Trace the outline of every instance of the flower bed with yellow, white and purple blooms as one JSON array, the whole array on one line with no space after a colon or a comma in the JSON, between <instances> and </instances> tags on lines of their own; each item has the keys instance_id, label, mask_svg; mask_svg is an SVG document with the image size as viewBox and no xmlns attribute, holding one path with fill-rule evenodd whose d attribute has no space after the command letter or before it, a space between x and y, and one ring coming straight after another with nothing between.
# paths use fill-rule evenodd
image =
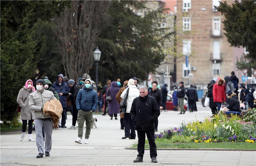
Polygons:
<instances>
[{"instance_id":1,"label":"flower bed with yellow, white and purple blooms","mask_svg":"<svg viewBox=\"0 0 256 166\"><path fill-rule=\"evenodd\" d=\"M170 142L248 142L256 141L256 124L252 121L244 121L236 115L227 118L218 114L213 118L205 118L203 122L198 120L185 124L180 128L164 130L155 134L156 139L168 139Z\"/></svg>"}]
</instances>

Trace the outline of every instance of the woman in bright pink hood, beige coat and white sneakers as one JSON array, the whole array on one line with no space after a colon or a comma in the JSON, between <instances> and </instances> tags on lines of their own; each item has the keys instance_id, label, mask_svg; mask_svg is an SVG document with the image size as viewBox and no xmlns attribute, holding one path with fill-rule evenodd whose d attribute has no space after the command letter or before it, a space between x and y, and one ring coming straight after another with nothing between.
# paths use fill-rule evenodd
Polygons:
<instances>
[{"instance_id":1,"label":"woman in bright pink hood, beige coat and white sneakers","mask_svg":"<svg viewBox=\"0 0 256 166\"><path fill-rule=\"evenodd\" d=\"M28 141L34 142L35 140L31 137L33 129L33 112L28 108L28 95L35 91L32 80L27 80L25 86L21 88L17 97L17 103L20 106L20 119L22 120L22 134L20 136L20 141L25 137L27 124L28 124Z\"/></svg>"}]
</instances>

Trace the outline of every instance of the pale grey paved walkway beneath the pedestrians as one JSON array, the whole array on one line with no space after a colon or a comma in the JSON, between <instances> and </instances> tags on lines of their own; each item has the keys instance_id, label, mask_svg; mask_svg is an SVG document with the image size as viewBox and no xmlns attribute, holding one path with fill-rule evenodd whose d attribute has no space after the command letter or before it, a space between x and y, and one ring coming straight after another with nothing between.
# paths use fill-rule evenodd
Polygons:
<instances>
[{"instance_id":1,"label":"pale grey paved walkway beneath the pedestrians","mask_svg":"<svg viewBox=\"0 0 256 166\"><path fill-rule=\"evenodd\" d=\"M184 115L178 112L161 112L159 131L169 127L179 127L182 120L204 120L211 116L209 108L197 104L199 111ZM256 151L211 151L211 150L158 150L158 163L151 163L149 150L145 150L144 162L133 163L136 150L124 149L138 140L122 140L124 130L120 120L110 120L109 116L97 117L97 129L93 128L89 144L76 144L77 130L53 130L50 157L36 159L36 142L28 142L26 134L19 141L21 131L1 134L1 166L7 165L246 165L256 166ZM67 127L72 123L68 115ZM85 130L84 130L85 132ZM35 132L32 133L35 138ZM84 139L84 138L83 138Z\"/></svg>"}]
</instances>

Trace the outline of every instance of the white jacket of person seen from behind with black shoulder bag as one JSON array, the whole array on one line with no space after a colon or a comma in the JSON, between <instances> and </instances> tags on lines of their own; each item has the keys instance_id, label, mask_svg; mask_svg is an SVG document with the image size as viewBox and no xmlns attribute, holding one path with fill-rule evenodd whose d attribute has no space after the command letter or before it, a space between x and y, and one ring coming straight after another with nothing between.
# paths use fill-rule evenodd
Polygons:
<instances>
[{"instance_id":1,"label":"white jacket of person seen from behind with black shoulder bag","mask_svg":"<svg viewBox=\"0 0 256 166\"><path fill-rule=\"evenodd\" d=\"M133 99L140 96L140 91L136 88L135 85L130 85L130 86L128 86L128 88L129 88L129 93L128 93L128 98L127 98L126 113L130 113ZM124 98L124 95L127 92L128 88L126 88L122 92L121 98Z\"/></svg>"}]
</instances>

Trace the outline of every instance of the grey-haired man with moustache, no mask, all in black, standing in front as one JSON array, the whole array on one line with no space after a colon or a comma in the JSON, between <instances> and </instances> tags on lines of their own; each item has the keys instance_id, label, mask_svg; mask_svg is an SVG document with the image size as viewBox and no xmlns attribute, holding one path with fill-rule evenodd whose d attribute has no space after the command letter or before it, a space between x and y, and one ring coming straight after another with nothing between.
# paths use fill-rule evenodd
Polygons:
<instances>
[{"instance_id":1,"label":"grey-haired man with moustache, no mask, all in black, standing in front","mask_svg":"<svg viewBox=\"0 0 256 166\"><path fill-rule=\"evenodd\" d=\"M160 110L156 98L148 96L146 86L140 87L140 97L133 100L130 114L139 139L137 148L139 154L133 162L143 162L145 134L149 142L151 162L157 162L154 120L160 115Z\"/></svg>"}]
</instances>

